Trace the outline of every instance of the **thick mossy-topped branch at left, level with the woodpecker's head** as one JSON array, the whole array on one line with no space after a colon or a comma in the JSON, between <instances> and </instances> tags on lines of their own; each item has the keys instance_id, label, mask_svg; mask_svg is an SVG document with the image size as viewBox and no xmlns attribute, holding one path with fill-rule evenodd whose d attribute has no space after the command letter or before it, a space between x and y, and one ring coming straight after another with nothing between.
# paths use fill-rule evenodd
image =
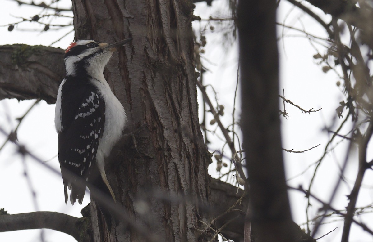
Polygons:
<instances>
[{"instance_id":1,"label":"thick mossy-topped branch at left, level with the woodpecker's head","mask_svg":"<svg viewBox=\"0 0 373 242\"><path fill-rule=\"evenodd\" d=\"M56 102L58 86L65 76L64 51L60 48L0 46L0 100L43 99Z\"/></svg>"}]
</instances>

